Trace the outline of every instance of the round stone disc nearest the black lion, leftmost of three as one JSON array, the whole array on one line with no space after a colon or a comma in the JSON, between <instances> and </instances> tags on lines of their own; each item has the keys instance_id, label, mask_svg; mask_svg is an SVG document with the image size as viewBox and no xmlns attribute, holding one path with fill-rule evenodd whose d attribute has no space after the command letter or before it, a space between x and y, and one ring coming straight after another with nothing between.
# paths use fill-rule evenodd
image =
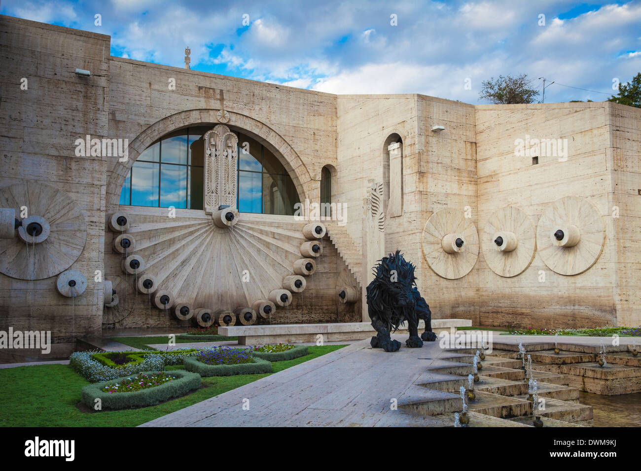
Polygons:
<instances>
[{"instance_id":1,"label":"round stone disc nearest the black lion, leftmost of three","mask_svg":"<svg viewBox=\"0 0 641 471\"><path fill-rule=\"evenodd\" d=\"M425 223L421 246L433 272L457 279L474 267L479 254L479 236L472 219L466 218L463 211L443 208Z\"/></svg>"}]
</instances>

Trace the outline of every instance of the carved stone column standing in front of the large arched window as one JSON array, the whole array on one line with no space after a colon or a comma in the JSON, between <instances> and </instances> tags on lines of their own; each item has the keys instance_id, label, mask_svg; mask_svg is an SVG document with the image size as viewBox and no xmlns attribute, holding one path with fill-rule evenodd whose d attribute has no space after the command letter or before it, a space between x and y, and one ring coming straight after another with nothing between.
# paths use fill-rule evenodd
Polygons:
<instances>
[{"instance_id":1,"label":"carved stone column standing in front of the large arched window","mask_svg":"<svg viewBox=\"0 0 641 471\"><path fill-rule=\"evenodd\" d=\"M224 124L204 135L204 211L212 214L221 204L236 208L238 136Z\"/></svg>"}]
</instances>

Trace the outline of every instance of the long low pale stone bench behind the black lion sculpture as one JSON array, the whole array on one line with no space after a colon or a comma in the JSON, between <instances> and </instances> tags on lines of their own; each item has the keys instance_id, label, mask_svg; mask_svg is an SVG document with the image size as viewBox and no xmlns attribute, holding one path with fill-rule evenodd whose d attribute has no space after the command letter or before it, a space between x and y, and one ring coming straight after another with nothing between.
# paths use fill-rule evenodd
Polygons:
<instances>
[{"instance_id":1,"label":"long low pale stone bench behind the black lion sculpture","mask_svg":"<svg viewBox=\"0 0 641 471\"><path fill-rule=\"evenodd\" d=\"M438 335L442 331L456 333L457 327L471 327L469 319L433 319L432 330ZM419 335L425 328L419 321ZM272 326L218 327L219 335L237 336L239 345L264 345L265 343L317 342L322 335L323 342L363 340L376 335L369 322L343 322L340 324L275 324ZM396 333L407 334L407 326L401 324Z\"/></svg>"}]
</instances>

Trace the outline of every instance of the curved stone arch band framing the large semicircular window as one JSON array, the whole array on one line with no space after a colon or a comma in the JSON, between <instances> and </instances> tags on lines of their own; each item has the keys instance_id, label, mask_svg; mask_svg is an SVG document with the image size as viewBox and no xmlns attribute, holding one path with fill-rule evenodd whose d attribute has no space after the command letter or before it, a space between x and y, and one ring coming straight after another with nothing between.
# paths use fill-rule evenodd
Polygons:
<instances>
[{"instance_id":1,"label":"curved stone arch band framing the large semicircular window","mask_svg":"<svg viewBox=\"0 0 641 471\"><path fill-rule=\"evenodd\" d=\"M175 113L154 122L154 124L142 131L142 133L129 143L128 159L124 162L117 161L112 169L112 174L106 186L107 208L113 208L113 206L118 205L121 188L129 169L131 169L138 156L144 152L149 145L175 129L186 128L187 126L202 126L206 124L215 126L216 124L220 124L221 121L217 118L217 114L219 114L220 111L221 110L215 109L199 109ZM223 113L221 113L221 115L222 114ZM304 199L308 197L304 185L308 183L312 177L306 165L304 165L303 160L301 160L292 146L274 131L274 129L263 122L240 113L224 111L224 114L229 115L229 120L226 120L224 124L231 128L242 129L242 131L251 135L251 137L258 140L274 153L292 178L299 198L301 201L304 201Z\"/></svg>"}]
</instances>

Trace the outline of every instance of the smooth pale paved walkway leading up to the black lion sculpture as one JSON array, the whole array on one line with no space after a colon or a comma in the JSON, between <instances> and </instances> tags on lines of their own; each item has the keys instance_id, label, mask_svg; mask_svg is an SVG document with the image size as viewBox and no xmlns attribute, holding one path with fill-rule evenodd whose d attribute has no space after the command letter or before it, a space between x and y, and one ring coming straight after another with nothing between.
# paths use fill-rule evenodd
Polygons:
<instances>
[{"instance_id":1,"label":"smooth pale paved walkway leading up to the black lion sculpture","mask_svg":"<svg viewBox=\"0 0 641 471\"><path fill-rule=\"evenodd\" d=\"M394 338L404 345L407 336ZM415 401L417 394L458 397L414 384L426 381L429 369L459 365L442 359L457 355L438 342L387 353L359 340L142 426L451 426L449 418L410 415L390 404Z\"/></svg>"}]
</instances>

